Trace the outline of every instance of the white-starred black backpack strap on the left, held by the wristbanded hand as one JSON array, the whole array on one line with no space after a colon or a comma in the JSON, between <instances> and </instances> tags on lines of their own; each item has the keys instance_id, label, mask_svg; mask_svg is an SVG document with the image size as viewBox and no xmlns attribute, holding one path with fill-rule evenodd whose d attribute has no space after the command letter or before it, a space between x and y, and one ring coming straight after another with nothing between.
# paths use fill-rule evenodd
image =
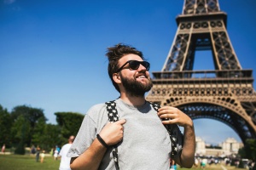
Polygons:
<instances>
[{"instance_id":1,"label":"white-starred black backpack strap on the left, held by the wristbanded hand","mask_svg":"<svg viewBox=\"0 0 256 170\"><path fill-rule=\"evenodd\" d=\"M119 120L119 114L116 110L116 103L113 101L106 102L105 105L107 106L107 112L108 112L108 121L109 122L117 122ZM118 155L118 148L117 144L113 145L113 161L114 166L117 170L119 170L119 155Z\"/></svg>"}]
</instances>

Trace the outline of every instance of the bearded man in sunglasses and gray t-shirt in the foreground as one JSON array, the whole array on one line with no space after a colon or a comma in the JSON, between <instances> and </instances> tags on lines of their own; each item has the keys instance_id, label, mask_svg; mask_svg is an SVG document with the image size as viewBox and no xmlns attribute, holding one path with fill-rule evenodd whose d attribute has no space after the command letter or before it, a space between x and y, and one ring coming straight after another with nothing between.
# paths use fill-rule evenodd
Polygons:
<instances>
[{"instance_id":1,"label":"bearded man in sunglasses and gray t-shirt in the foreground","mask_svg":"<svg viewBox=\"0 0 256 170\"><path fill-rule=\"evenodd\" d=\"M182 111L163 106L156 112L144 94L153 84L149 63L142 52L125 44L108 48L108 76L119 93L115 100L119 121L108 122L106 105L94 105L87 112L68 152L72 169L116 169L111 153L118 145L119 169L168 169L171 139L163 124L184 127L183 150L173 159L182 167L192 167L195 133L192 120ZM167 121L161 119L167 118Z\"/></svg>"}]
</instances>

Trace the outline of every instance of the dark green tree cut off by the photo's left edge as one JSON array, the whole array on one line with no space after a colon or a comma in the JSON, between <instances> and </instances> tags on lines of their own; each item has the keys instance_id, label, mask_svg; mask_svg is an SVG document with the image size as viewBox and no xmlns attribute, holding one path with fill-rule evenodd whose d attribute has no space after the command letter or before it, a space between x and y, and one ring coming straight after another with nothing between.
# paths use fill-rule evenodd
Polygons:
<instances>
[{"instance_id":1,"label":"dark green tree cut off by the photo's left edge","mask_svg":"<svg viewBox=\"0 0 256 170\"><path fill-rule=\"evenodd\" d=\"M12 121L9 112L7 109L3 109L3 106L0 105L0 144L1 146L5 144L10 146L10 133L9 129L12 127Z\"/></svg>"}]
</instances>

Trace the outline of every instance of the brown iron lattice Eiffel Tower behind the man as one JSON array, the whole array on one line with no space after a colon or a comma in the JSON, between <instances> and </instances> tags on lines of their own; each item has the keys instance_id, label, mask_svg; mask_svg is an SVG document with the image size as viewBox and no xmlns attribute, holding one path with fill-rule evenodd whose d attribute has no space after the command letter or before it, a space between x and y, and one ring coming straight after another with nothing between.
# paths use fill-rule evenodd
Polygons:
<instances>
[{"instance_id":1,"label":"brown iron lattice Eiffel Tower behind the man","mask_svg":"<svg viewBox=\"0 0 256 170\"><path fill-rule=\"evenodd\" d=\"M154 86L146 99L177 107L192 120L224 122L244 144L256 139L253 71L241 68L218 0L184 0L176 21L172 47L162 71L152 73ZM212 51L215 70L193 70L196 50Z\"/></svg>"}]
</instances>

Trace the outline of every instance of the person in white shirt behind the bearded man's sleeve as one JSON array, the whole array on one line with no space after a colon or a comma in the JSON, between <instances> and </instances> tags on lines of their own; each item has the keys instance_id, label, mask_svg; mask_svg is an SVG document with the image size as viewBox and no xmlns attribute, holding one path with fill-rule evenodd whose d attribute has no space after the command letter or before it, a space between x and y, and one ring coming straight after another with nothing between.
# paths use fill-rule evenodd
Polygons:
<instances>
[{"instance_id":1,"label":"person in white shirt behind the bearded man's sleeve","mask_svg":"<svg viewBox=\"0 0 256 170\"><path fill-rule=\"evenodd\" d=\"M70 136L68 139L68 143L64 144L61 148L59 156L61 156L60 170L70 170L70 159L71 157L67 157L67 152L73 144L74 136Z\"/></svg>"}]
</instances>

